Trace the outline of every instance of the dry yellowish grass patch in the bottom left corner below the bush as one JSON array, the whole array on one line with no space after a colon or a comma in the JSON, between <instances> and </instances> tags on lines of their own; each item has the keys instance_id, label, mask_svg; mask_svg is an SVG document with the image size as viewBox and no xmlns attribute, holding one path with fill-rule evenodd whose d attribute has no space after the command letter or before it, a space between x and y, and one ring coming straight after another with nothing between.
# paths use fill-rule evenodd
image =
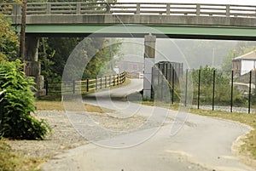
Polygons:
<instances>
[{"instance_id":1,"label":"dry yellowish grass patch in the bottom left corner below the bush","mask_svg":"<svg viewBox=\"0 0 256 171\"><path fill-rule=\"evenodd\" d=\"M0 140L0 170L3 171L38 171L43 159L26 158L11 151L5 140Z\"/></svg>"}]
</instances>

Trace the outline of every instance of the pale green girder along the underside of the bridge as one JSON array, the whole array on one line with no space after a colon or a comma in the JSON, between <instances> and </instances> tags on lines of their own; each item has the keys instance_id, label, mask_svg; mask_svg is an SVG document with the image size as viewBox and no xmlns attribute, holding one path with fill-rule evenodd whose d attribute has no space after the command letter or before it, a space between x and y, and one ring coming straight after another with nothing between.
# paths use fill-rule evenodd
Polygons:
<instances>
[{"instance_id":1,"label":"pale green girder along the underside of the bridge","mask_svg":"<svg viewBox=\"0 0 256 171\"><path fill-rule=\"evenodd\" d=\"M20 31L20 28L17 28ZM27 25L32 37L144 37L148 33L159 38L256 40L253 27L234 26L137 26L137 25Z\"/></svg>"}]
</instances>

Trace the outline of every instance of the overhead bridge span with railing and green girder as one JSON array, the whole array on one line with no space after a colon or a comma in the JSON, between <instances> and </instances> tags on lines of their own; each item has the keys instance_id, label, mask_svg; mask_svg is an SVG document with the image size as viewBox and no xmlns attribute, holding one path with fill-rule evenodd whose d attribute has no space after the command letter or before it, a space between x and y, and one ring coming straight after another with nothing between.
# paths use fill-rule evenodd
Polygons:
<instances>
[{"instance_id":1,"label":"overhead bridge span with railing and green girder","mask_svg":"<svg viewBox=\"0 0 256 171\"><path fill-rule=\"evenodd\" d=\"M6 9L6 8L5 8ZM6 14L20 28L21 4ZM150 26L168 37L256 39L256 6L206 3L27 3L26 34L37 37L84 37L106 26ZM137 26L102 32L108 37L144 37ZM160 37L159 32L152 32ZM147 32L148 34L148 32Z\"/></svg>"}]
</instances>

